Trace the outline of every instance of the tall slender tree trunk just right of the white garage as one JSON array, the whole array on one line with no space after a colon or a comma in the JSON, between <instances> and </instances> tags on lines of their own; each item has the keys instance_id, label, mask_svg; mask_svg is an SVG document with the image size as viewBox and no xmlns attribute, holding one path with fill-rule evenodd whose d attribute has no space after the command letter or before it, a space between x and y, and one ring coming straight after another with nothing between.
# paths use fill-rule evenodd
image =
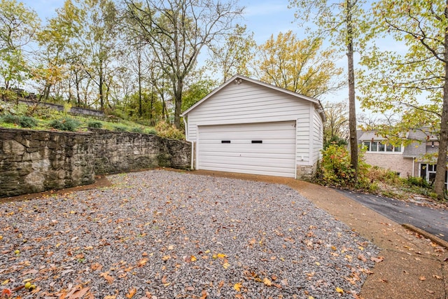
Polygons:
<instances>
[{"instance_id":1,"label":"tall slender tree trunk just right of the white garage","mask_svg":"<svg viewBox=\"0 0 448 299\"><path fill-rule=\"evenodd\" d=\"M353 67L353 24L351 21L352 3L346 0L346 26L347 26L347 60L349 64L349 132L350 157L355 183L358 181L358 139L356 137L356 102L355 102L355 71Z\"/></svg>"}]
</instances>

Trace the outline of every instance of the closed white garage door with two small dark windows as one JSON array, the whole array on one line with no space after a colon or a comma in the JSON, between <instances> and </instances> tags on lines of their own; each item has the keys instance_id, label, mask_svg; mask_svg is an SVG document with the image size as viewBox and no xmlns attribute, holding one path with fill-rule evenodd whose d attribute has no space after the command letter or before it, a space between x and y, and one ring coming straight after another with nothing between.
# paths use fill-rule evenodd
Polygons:
<instances>
[{"instance_id":1,"label":"closed white garage door with two small dark windows","mask_svg":"<svg viewBox=\"0 0 448 299\"><path fill-rule=\"evenodd\" d=\"M198 169L295 176L295 121L198 127Z\"/></svg>"}]
</instances>

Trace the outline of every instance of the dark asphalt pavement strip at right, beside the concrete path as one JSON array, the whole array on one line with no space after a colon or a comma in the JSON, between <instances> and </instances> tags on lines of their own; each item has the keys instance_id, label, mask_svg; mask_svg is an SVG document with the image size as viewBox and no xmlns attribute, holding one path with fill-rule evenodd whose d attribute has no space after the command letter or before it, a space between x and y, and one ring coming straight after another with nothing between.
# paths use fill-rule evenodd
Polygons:
<instances>
[{"instance_id":1,"label":"dark asphalt pavement strip at right, beside the concrete path","mask_svg":"<svg viewBox=\"0 0 448 299\"><path fill-rule=\"evenodd\" d=\"M426 207L412 202L403 202L388 197L357 193L349 190L336 190L396 223L412 224L448 242L447 209Z\"/></svg>"}]
</instances>

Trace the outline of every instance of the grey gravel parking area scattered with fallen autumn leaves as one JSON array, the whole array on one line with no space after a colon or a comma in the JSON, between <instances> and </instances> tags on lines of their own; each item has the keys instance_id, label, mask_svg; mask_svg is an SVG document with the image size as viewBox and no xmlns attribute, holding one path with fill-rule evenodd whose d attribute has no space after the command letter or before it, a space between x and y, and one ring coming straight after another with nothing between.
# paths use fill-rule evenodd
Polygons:
<instances>
[{"instance_id":1,"label":"grey gravel parking area scattered with fallen autumn leaves","mask_svg":"<svg viewBox=\"0 0 448 299\"><path fill-rule=\"evenodd\" d=\"M109 179L108 188L1 204L1 289L21 298L352 298L378 253L288 186L163 170ZM28 279L32 291L20 288Z\"/></svg>"}]
</instances>

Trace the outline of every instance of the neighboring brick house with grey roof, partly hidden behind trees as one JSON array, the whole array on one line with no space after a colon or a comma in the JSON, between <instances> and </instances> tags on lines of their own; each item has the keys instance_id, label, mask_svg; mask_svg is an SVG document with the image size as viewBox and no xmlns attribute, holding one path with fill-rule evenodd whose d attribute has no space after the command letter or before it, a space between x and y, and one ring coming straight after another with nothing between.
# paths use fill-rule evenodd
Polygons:
<instances>
[{"instance_id":1,"label":"neighboring brick house with grey roof, partly hidden behind trees","mask_svg":"<svg viewBox=\"0 0 448 299\"><path fill-rule=\"evenodd\" d=\"M435 179L436 161L428 161L424 155L437 153L438 141L434 136L428 137L423 130L412 130L407 139L414 140L408 146L392 146L375 131L358 131L358 144L366 148L365 162L397 172L400 177L419 176L429 182ZM446 177L446 176L445 176ZM445 184L447 179L445 179Z\"/></svg>"}]
</instances>

